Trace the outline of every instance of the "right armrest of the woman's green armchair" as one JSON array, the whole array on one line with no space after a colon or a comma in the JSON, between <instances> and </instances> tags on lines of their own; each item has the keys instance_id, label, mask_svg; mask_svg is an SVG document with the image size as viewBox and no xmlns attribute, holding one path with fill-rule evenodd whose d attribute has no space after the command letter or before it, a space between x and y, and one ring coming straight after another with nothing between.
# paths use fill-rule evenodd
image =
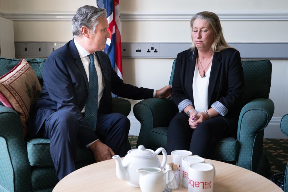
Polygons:
<instances>
[{"instance_id":1,"label":"right armrest of the woman's green armchair","mask_svg":"<svg viewBox=\"0 0 288 192\"><path fill-rule=\"evenodd\" d=\"M255 171L262 153L264 128L274 113L271 99L258 98L247 103L241 110L238 121L237 140L239 156L237 165Z\"/></svg>"}]
</instances>

